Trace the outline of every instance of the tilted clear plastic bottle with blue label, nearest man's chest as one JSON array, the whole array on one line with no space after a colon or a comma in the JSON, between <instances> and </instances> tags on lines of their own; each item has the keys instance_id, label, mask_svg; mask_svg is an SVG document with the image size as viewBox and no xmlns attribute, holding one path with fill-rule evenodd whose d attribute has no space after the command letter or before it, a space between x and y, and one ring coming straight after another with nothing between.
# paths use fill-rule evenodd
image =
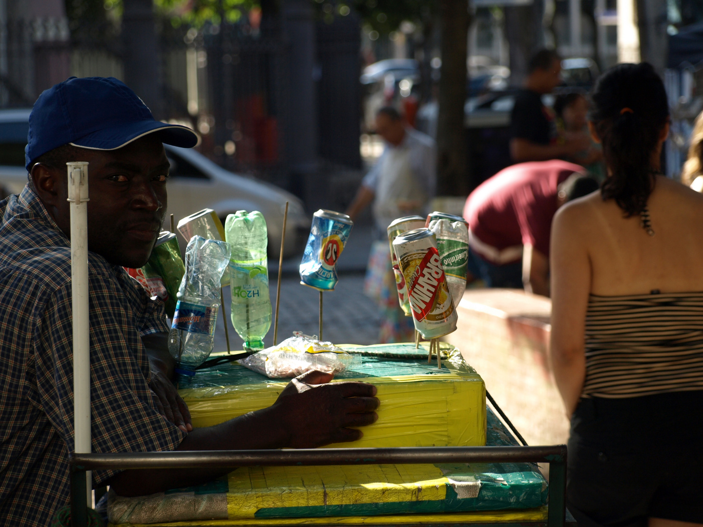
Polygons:
<instances>
[{"instance_id":1,"label":"tilted clear plastic bottle with blue label, nearest man's chest","mask_svg":"<svg viewBox=\"0 0 703 527\"><path fill-rule=\"evenodd\" d=\"M220 279L229 263L226 242L193 236L186 247L186 273L169 332L169 353L176 359L179 382L190 382L214 345Z\"/></svg>"}]
</instances>

